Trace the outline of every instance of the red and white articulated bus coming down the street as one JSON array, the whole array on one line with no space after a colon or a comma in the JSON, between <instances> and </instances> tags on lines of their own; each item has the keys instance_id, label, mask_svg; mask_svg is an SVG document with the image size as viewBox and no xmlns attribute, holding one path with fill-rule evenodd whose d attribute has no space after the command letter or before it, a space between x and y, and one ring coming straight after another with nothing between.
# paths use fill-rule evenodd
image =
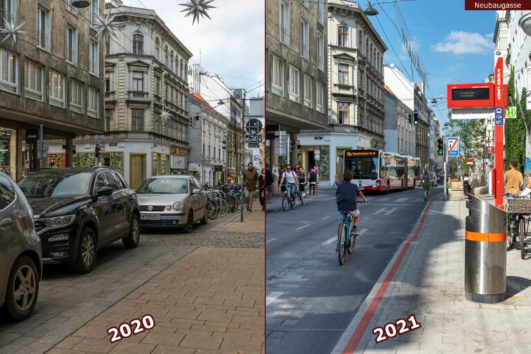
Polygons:
<instances>
[{"instance_id":1,"label":"red and white articulated bus coming down the street","mask_svg":"<svg viewBox=\"0 0 531 354\"><path fill-rule=\"evenodd\" d=\"M380 150L347 150L344 171L353 173L352 183L362 191L389 192L406 189L407 158Z\"/></svg>"}]
</instances>

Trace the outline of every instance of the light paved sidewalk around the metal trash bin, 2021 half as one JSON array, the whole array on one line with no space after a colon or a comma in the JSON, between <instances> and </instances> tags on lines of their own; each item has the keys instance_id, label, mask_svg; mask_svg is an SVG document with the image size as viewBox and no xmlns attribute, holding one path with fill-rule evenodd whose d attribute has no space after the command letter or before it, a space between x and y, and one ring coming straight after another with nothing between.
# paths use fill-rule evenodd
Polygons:
<instances>
[{"instance_id":1,"label":"light paved sidewalk around the metal trash bin, 2021 half","mask_svg":"<svg viewBox=\"0 0 531 354\"><path fill-rule=\"evenodd\" d=\"M465 201L431 204L356 353L531 353L531 261L522 260L519 250L507 252L507 299L499 304L467 301L467 215ZM375 343L373 328L412 314L422 328ZM334 353L342 351L339 346Z\"/></svg>"}]
</instances>

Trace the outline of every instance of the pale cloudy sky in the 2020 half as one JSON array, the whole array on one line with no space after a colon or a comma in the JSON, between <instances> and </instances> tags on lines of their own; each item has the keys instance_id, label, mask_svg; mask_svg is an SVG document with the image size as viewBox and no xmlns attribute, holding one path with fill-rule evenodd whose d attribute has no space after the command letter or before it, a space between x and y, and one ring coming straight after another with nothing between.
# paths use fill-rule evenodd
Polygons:
<instances>
[{"instance_id":1,"label":"pale cloudy sky in the 2020 half","mask_svg":"<svg viewBox=\"0 0 531 354\"><path fill-rule=\"evenodd\" d=\"M192 26L183 6L189 0L122 0L124 6L151 8L209 73L217 73L230 88L246 88L248 96L263 95L263 0L214 0L207 17ZM261 85L261 86L260 86ZM259 86L257 88L257 86Z\"/></svg>"}]
</instances>

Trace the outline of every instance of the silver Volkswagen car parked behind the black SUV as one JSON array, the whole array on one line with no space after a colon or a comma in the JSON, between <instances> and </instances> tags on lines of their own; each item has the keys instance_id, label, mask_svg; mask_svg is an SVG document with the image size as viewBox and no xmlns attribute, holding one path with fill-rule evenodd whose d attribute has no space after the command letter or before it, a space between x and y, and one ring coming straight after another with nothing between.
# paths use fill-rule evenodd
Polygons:
<instances>
[{"instance_id":1,"label":"silver Volkswagen car parked behind the black SUV","mask_svg":"<svg viewBox=\"0 0 531 354\"><path fill-rule=\"evenodd\" d=\"M153 176L136 189L142 227L183 227L208 222L207 196L194 176Z\"/></svg>"}]
</instances>

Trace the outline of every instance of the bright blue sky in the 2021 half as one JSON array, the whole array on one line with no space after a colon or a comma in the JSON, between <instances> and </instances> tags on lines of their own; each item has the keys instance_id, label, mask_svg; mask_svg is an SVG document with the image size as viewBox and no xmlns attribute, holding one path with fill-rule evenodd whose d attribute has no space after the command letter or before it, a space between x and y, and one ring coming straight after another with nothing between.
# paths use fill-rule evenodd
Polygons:
<instances>
[{"instance_id":1,"label":"bright blue sky in the 2021 half","mask_svg":"<svg viewBox=\"0 0 531 354\"><path fill-rule=\"evenodd\" d=\"M385 61L400 67L411 79L411 62L392 22L400 28L395 4L384 3L388 1L381 0L381 4L374 6L380 12L376 16L378 19L375 16L369 19L389 47L384 55ZM360 4L365 8L365 2L360 1ZM433 97L432 94L446 97L447 84L483 82L492 73L494 11L465 11L465 0L407 0L398 2L398 8L407 24L409 40L414 41L425 71L429 73L431 92L427 91L427 97ZM414 78L420 80L416 71ZM435 110L441 110L436 111L436 115L443 123L447 121L446 101L435 106Z\"/></svg>"}]
</instances>

